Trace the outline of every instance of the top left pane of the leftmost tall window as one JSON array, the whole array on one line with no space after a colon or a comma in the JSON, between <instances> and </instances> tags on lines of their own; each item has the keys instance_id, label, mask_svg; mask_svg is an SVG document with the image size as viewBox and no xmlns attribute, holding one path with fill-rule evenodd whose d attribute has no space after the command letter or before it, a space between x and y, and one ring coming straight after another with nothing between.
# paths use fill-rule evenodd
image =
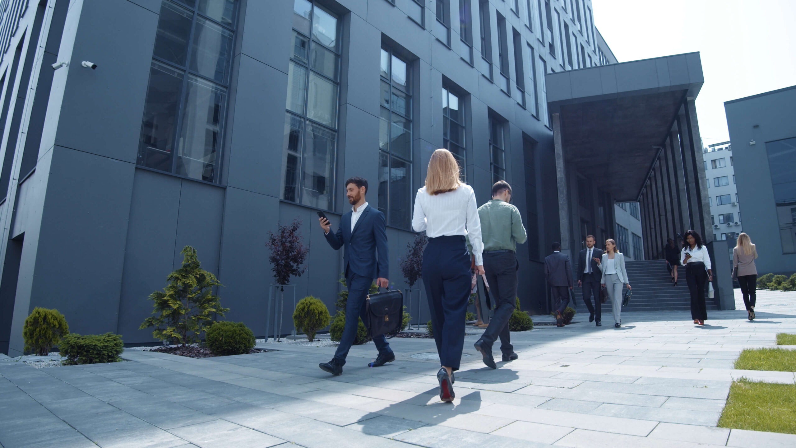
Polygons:
<instances>
[{"instance_id":1,"label":"top left pane of the leftmost tall window","mask_svg":"<svg viewBox=\"0 0 796 448\"><path fill-rule=\"evenodd\" d=\"M185 66L193 13L171 2L163 2L154 39L154 56Z\"/></svg>"}]
</instances>

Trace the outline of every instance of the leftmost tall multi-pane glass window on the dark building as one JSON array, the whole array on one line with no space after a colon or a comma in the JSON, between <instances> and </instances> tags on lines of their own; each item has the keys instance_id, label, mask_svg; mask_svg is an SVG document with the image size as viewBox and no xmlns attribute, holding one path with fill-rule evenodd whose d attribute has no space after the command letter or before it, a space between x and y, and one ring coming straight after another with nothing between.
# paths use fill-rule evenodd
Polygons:
<instances>
[{"instance_id":1,"label":"leftmost tall multi-pane glass window on the dark building","mask_svg":"<svg viewBox=\"0 0 796 448\"><path fill-rule=\"evenodd\" d=\"M218 182L237 0L164 0L137 163Z\"/></svg>"}]
</instances>

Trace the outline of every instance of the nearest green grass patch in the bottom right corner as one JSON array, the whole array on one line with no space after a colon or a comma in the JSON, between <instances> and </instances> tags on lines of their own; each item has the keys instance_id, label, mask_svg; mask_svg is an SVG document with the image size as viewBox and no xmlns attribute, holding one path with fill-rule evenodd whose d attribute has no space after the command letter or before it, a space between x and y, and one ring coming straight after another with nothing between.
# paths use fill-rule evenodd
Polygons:
<instances>
[{"instance_id":1,"label":"nearest green grass patch in the bottom right corner","mask_svg":"<svg viewBox=\"0 0 796 448\"><path fill-rule=\"evenodd\" d=\"M796 384L733 381L719 426L796 434Z\"/></svg>"}]
</instances>

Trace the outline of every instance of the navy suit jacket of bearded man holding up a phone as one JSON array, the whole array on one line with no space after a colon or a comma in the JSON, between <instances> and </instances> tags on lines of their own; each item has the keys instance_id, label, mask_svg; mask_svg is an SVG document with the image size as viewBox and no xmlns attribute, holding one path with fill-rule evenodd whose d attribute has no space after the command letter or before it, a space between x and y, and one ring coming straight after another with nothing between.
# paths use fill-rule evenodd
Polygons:
<instances>
[{"instance_id":1,"label":"navy suit jacket of bearded man holding up a phone","mask_svg":"<svg viewBox=\"0 0 796 448\"><path fill-rule=\"evenodd\" d=\"M387 228L384 214L368 205L351 230L351 213L340 218L338 232L326 234L326 241L332 249L345 246L343 261L345 277L349 269L362 277L389 278L389 257L387 249Z\"/></svg>"}]
</instances>

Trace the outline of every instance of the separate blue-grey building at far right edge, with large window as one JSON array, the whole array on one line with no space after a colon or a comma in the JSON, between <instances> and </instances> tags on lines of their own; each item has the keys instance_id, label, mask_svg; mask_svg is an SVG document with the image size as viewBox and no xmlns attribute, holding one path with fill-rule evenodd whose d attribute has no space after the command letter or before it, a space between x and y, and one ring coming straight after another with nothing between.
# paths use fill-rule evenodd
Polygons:
<instances>
[{"instance_id":1,"label":"separate blue-grey building at far right edge, with large window","mask_svg":"<svg viewBox=\"0 0 796 448\"><path fill-rule=\"evenodd\" d=\"M796 85L726 101L724 111L757 272L790 275L796 272Z\"/></svg>"}]
</instances>

